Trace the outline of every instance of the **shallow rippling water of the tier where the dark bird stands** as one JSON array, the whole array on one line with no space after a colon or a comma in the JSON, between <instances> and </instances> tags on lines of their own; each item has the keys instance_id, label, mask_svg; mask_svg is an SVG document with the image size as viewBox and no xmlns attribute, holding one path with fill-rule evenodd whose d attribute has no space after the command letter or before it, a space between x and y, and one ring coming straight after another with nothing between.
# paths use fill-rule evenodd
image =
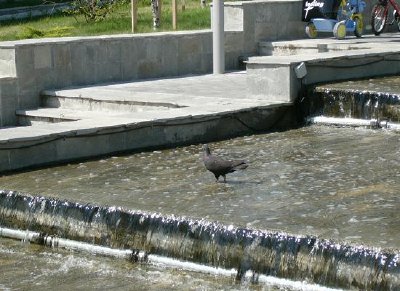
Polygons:
<instances>
[{"instance_id":1,"label":"shallow rippling water of the tier where the dark bird stands","mask_svg":"<svg viewBox=\"0 0 400 291\"><path fill-rule=\"evenodd\" d=\"M0 177L1 188L400 248L400 135L310 126L210 144L245 171L215 183L201 145Z\"/></svg>"}]
</instances>

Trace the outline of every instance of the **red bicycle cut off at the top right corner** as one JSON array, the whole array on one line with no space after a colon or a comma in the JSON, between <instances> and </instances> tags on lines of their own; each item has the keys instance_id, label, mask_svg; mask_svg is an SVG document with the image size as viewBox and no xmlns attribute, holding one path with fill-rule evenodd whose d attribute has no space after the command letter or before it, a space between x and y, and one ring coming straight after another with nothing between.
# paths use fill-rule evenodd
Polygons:
<instances>
[{"instance_id":1,"label":"red bicycle cut off at the top right corner","mask_svg":"<svg viewBox=\"0 0 400 291\"><path fill-rule=\"evenodd\" d=\"M389 25L396 23L397 29L400 31L400 6L395 0L379 0L372 8L371 13L371 26L375 35L379 35L388 23L390 6L393 7L393 19L391 19Z\"/></svg>"}]
</instances>

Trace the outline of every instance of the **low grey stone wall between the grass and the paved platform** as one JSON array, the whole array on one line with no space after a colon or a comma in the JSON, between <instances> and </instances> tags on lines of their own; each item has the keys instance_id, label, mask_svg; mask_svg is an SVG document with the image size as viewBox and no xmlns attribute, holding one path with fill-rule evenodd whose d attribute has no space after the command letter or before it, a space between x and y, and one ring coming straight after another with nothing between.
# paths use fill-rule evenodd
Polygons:
<instances>
[{"instance_id":1,"label":"low grey stone wall between the grass and the paved platform","mask_svg":"<svg viewBox=\"0 0 400 291\"><path fill-rule=\"evenodd\" d=\"M227 70L238 67L241 41L240 33L228 33ZM16 119L10 115L16 109L37 108L40 92L45 89L210 73L212 33L203 30L2 42L0 56L1 92L16 94L13 102L9 98L1 102L7 106L1 107L0 125L7 126L15 125ZM12 82L16 88L12 90L5 85L10 77L15 78Z\"/></svg>"}]
</instances>

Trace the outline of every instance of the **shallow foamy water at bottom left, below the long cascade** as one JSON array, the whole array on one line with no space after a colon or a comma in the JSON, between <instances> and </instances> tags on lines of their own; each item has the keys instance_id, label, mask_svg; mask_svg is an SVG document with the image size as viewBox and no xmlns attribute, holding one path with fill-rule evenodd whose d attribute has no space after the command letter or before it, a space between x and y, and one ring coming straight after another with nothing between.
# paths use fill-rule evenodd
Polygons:
<instances>
[{"instance_id":1,"label":"shallow foamy water at bottom left, below the long cascade","mask_svg":"<svg viewBox=\"0 0 400 291\"><path fill-rule=\"evenodd\" d=\"M258 286L257 288L259 288ZM0 238L0 290L243 290L250 282ZM265 290L279 290L265 285Z\"/></svg>"}]
</instances>

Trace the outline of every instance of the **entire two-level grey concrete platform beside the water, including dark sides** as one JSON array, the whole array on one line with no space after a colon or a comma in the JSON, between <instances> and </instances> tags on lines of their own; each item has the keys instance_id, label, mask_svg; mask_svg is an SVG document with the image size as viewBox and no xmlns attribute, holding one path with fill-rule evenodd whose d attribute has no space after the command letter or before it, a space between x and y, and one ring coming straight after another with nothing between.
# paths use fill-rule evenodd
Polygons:
<instances>
[{"instance_id":1,"label":"entire two-level grey concrete platform beside the water, including dark sides","mask_svg":"<svg viewBox=\"0 0 400 291\"><path fill-rule=\"evenodd\" d=\"M246 71L42 90L0 130L0 172L285 129L304 85L400 73L398 34L270 44Z\"/></svg>"}]
</instances>

